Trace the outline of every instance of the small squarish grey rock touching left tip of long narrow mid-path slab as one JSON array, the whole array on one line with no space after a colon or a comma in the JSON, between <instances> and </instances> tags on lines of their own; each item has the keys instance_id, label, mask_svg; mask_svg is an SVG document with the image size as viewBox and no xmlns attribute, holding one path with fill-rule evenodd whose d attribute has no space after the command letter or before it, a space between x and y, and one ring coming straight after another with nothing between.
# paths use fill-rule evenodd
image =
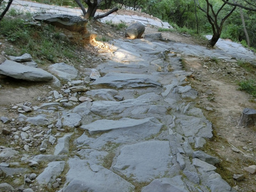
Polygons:
<instances>
[{"instance_id":1,"label":"small squarish grey rock touching left tip of long narrow mid-path slab","mask_svg":"<svg viewBox=\"0 0 256 192\"><path fill-rule=\"evenodd\" d=\"M76 113L69 113L62 116L62 127L78 127L81 125L82 117Z\"/></svg>"}]
</instances>

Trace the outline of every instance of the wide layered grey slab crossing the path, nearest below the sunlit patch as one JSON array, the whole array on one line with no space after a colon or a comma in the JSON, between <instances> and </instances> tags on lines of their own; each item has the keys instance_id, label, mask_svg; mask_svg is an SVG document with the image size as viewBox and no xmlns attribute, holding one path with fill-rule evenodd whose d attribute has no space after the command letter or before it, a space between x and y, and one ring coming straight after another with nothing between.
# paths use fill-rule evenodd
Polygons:
<instances>
[{"instance_id":1,"label":"wide layered grey slab crossing the path, nearest below the sunlit patch","mask_svg":"<svg viewBox=\"0 0 256 192\"><path fill-rule=\"evenodd\" d=\"M155 81L154 76L142 74L109 73L104 77L96 79L92 85L107 85L111 87L148 87L162 86Z\"/></svg>"}]
</instances>

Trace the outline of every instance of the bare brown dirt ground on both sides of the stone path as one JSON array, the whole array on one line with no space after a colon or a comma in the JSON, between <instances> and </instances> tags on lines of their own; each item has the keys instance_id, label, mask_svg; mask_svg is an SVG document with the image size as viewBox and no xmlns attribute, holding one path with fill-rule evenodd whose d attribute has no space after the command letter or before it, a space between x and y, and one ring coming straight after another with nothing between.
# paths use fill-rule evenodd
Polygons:
<instances>
[{"instance_id":1,"label":"bare brown dirt ground on both sides of the stone path","mask_svg":"<svg viewBox=\"0 0 256 192\"><path fill-rule=\"evenodd\" d=\"M133 12L129 13L133 14ZM97 31L99 36L124 38L123 31L116 33L113 27L100 22L91 22L88 28ZM145 34L152 33L159 33L158 29L152 26L146 27ZM175 32L161 33L164 38L175 42L200 45L206 45L207 43L206 40L198 40L196 37ZM8 46L7 42L4 42L4 46ZM96 51L94 46L87 46L86 49L89 50L86 53L91 54L92 59L97 57L97 54L90 53L90 51ZM239 67L237 62L215 61L210 57L180 56L184 68L193 72L193 75L188 79L191 86L199 93L196 106L204 111L206 118L213 124L214 137L209 140L203 150L206 153L218 156L222 160L217 172L232 187L235 187L238 191L256 191L256 175L249 174L244 170L244 167L256 164L256 129L255 127L237 126L237 121L244 108L256 109L255 100L249 94L239 91L237 82L244 77L254 77L256 70L246 71ZM97 65L94 60L91 60L91 63ZM89 64L90 62L88 62ZM33 106L36 106L42 102L42 100L38 100L38 97L50 96L49 92L54 90L51 85L45 83L28 83L15 81L11 78L0 79L0 85L2 86L0 89L0 116L9 118L18 116L17 112L10 110L13 105L29 101L33 103ZM2 123L0 124L2 125ZM0 143L0 145L4 144ZM237 148L238 153L231 148ZM245 179L236 181L233 179L233 174L244 174Z\"/></svg>"}]
</instances>

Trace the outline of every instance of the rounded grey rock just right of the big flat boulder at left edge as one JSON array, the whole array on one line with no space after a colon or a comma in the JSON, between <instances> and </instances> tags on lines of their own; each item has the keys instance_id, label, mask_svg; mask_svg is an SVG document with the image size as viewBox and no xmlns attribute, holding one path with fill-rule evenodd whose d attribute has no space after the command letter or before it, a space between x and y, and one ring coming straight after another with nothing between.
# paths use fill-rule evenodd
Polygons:
<instances>
[{"instance_id":1,"label":"rounded grey rock just right of the big flat boulder at left edge","mask_svg":"<svg viewBox=\"0 0 256 192\"><path fill-rule=\"evenodd\" d=\"M75 79L78 75L78 71L73 66L69 66L66 63L55 63L49 66L49 70L61 80L69 82Z\"/></svg>"}]
</instances>

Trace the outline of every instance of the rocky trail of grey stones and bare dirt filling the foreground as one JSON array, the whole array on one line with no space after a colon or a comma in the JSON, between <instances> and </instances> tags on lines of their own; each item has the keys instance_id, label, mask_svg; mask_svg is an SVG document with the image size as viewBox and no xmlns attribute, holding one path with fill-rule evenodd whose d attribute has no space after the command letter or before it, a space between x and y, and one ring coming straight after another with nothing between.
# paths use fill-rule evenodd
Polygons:
<instances>
[{"instance_id":1,"label":"rocky trail of grey stones and bare dirt filling the foreground","mask_svg":"<svg viewBox=\"0 0 256 192\"><path fill-rule=\"evenodd\" d=\"M61 82L1 80L0 191L256 191L256 133L237 126L255 103L227 81L255 54L149 31L95 45L95 68L47 67Z\"/></svg>"}]
</instances>

